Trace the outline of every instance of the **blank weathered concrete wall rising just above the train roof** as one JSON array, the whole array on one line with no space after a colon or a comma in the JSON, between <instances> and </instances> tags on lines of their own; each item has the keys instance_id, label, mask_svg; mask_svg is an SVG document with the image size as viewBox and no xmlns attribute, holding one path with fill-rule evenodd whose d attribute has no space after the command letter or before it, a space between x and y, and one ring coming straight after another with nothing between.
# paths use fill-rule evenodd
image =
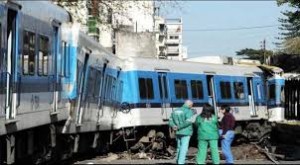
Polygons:
<instances>
[{"instance_id":1,"label":"blank weathered concrete wall rising just above the train roof","mask_svg":"<svg viewBox=\"0 0 300 165\"><path fill-rule=\"evenodd\" d=\"M155 36L151 32L116 32L116 55L119 57L156 57Z\"/></svg>"}]
</instances>

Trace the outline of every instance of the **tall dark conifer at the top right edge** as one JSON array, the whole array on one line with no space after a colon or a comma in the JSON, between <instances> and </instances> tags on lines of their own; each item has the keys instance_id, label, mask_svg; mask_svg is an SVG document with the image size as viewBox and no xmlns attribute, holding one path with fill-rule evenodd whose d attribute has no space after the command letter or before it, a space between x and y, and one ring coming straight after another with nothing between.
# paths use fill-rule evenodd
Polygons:
<instances>
[{"instance_id":1,"label":"tall dark conifer at the top right edge","mask_svg":"<svg viewBox=\"0 0 300 165\"><path fill-rule=\"evenodd\" d=\"M277 0L277 4L291 7L290 11L282 12L284 18L279 18L282 51L287 54L300 54L300 1Z\"/></svg>"}]
</instances>

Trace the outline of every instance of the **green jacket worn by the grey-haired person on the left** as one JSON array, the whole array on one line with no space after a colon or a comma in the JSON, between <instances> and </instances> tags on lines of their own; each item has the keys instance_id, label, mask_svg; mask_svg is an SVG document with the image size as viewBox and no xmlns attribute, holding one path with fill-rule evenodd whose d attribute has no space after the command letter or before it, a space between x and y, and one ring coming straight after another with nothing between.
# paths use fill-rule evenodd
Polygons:
<instances>
[{"instance_id":1,"label":"green jacket worn by the grey-haired person on the left","mask_svg":"<svg viewBox=\"0 0 300 165\"><path fill-rule=\"evenodd\" d=\"M181 108L175 109L170 118L169 126L177 126L176 135L192 135L193 134L193 123L192 123L193 111L186 105Z\"/></svg>"}]
</instances>

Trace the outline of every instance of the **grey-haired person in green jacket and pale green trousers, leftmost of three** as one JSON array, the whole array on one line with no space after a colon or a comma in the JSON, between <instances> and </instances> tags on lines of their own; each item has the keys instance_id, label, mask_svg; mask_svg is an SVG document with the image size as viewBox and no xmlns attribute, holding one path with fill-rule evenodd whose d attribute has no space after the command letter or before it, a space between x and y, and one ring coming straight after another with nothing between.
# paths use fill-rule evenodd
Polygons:
<instances>
[{"instance_id":1,"label":"grey-haired person in green jacket and pale green trousers, leftmost of three","mask_svg":"<svg viewBox=\"0 0 300 165\"><path fill-rule=\"evenodd\" d=\"M185 163L190 138L193 134L192 117L194 113L191 109L192 107L193 102L191 100L186 100L184 105L181 108L175 109L169 118L169 126L176 131L177 164Z\"/></svg>"}]
</instances>

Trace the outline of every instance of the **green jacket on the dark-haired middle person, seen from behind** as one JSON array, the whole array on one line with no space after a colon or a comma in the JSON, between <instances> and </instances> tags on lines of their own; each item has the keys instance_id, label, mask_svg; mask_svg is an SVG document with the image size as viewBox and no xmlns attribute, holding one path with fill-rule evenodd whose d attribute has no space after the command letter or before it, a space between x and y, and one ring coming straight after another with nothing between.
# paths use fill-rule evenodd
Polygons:
<instances>
[{"instance_id":1,"label":"green jacket on the dark-haired middle person, seen from behind","mask_svg":"<svg viewBox=\"0 0 300 165\"><path fill-rule=\"evenodd\" d=\"M215 115L209 120L197 116L195 122L198 130L198 140L216 140L219 139L218 119Z\"/></svg>"}]
</instances>

